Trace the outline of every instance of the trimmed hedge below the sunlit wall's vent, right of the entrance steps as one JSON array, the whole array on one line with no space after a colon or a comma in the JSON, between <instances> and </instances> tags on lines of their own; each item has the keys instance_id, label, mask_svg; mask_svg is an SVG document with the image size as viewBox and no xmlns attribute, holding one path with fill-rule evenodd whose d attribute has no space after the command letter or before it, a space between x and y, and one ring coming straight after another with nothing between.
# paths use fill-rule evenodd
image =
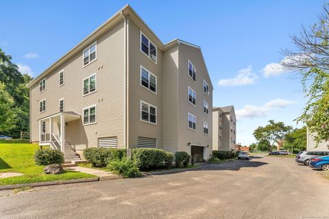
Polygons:
<instances>
[{"instance_id":1,"label":"trimmed hedge below the sunlit wall's vent, right of the entrance steps","mask_svg":"<svg viewBox=\"0 0 329 219\"><path fill-rule=\"evenodd\" d=\"M84 150L84 157L95 167L106 167L113 160L121 160L126 156L125 149L88 148Z\"/></svg>"}]
</instances>

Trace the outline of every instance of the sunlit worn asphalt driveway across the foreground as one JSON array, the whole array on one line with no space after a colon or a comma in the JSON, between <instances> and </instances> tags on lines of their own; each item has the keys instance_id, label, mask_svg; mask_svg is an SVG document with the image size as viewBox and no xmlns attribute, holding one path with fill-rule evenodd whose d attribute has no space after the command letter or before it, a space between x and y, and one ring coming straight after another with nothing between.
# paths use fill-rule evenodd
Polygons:
<instances>
[{"instance_id":1,"label":"sunlit worn asphalt driveway across the foreground","mask_svg":"<svg viewBox=\"0 0 329 219\"><path fill-rule=\"evenodd\" d=\"M137 179L0 191L0 218L329 218L329 181L253 157Z\"/></svg>"}]
</instances>

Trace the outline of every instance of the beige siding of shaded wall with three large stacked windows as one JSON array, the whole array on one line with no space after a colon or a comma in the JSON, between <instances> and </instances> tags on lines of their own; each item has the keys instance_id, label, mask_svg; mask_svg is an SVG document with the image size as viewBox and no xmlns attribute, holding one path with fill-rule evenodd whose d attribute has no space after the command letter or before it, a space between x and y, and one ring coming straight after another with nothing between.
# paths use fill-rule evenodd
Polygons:
<instances>
[{"instance_id":1,"label":"beige siding of shaded wall with three large stacked windows","mask_svg":"<svg viewBox=\"0 0 329 219\"><path fill-rule=\"evenodd\" d=\"M129 20L128 57L128 135L129 146L138 146L138 137L156 138L162 147L162 51L157 49L157 64L140 51L140 29ZM145 34L146 35L146 34ZM151 38L150 36L147 36ZM158 45L156 45L158 47ZM141 65L157 77L157 93L141 86ZM140 120L141 100L157 107L157 124Z\"/></svg>"}]
</instances>

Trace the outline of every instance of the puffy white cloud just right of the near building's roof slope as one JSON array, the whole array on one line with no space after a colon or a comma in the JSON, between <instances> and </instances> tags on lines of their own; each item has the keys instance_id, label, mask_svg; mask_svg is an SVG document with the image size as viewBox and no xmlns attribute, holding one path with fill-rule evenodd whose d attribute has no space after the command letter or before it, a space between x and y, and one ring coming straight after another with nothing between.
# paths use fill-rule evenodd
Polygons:
<instances>
[{"instance_id":1,"label":"puffy white cloud just right of the near building's roof slope","mask_svg":"<svg viewBox=\"0 0 329 219\"><path fill-rule=\"evenodd\" d=\"M238 71L235 77L220 79L218 86L245 86L256 83L257 75L252 72L252 66Z\"/></svg>"}]
</instances>

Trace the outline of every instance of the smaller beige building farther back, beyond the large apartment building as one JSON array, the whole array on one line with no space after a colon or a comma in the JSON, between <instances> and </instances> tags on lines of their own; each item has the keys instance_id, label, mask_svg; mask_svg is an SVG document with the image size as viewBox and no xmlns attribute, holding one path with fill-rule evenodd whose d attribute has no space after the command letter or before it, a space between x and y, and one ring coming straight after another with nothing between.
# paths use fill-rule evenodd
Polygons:
<instances>
[{"instance_id":1,"label":"smaller beige building farther back, beyond the large apartment building","mask_svg":"<svg viewBox=\"0 0 329 219\"><path fill-rule=\"evenodd\" d=\"M213 150L236 149L236 117L232 105L212 108L212 131Z\"/></svg>"}]
</instances>

